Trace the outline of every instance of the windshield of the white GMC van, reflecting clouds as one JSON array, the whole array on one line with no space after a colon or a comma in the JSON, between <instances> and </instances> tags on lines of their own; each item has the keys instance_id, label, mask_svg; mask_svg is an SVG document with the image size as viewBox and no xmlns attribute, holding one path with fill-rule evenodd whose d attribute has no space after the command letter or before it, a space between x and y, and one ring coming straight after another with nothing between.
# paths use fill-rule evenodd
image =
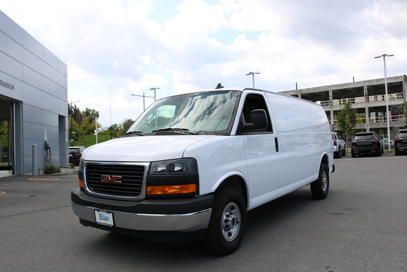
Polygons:
<instances>
[{"instance_id":1,"label":"windshield of the white GMC van, reflecting clouds","mask_svg":"<svg viewBox=\"0 0 407 272\"><path fill-rule=\"evenodd\" d=\"M148 134L174 128L175 133L182 134L181 130L230 134L240 94L239 91L211 91L157 100L137 118L128 133Z\"/></svg>"}]
</instances>

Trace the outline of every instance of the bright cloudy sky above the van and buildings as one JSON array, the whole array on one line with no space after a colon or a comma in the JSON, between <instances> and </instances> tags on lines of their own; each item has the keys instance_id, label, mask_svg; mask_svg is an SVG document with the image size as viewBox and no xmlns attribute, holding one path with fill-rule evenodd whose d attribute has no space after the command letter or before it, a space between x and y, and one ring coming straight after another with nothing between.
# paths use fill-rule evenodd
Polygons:
<instances>
[{"instance_id":1,"label":"bright cloudy sky above the van and buildings","mask_svg":"<svg viewBox=\"0 0 407 272\"><path fill-rule=\"evenodd\" d=\"M142 97L214 88L287 91L407 73L405 0L0 0L68 65L68 99L103 127ZM154 101L146 98L146 107ZM111 111L110 111L111 107ZM111 112L111 114L110 114ZM111 121L110 121L111 119Z\"/></svg>"}]
</instances>

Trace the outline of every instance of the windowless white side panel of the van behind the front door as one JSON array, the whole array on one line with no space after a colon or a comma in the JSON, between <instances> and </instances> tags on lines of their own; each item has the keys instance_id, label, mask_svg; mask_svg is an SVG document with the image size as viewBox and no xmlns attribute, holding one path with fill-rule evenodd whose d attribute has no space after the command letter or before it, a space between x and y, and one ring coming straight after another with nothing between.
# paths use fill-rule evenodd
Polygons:
<instances>
[{"instance_id":1,"label":"windowless white side panel of the van behind the front door","mask_svg":"<svg viewBox=\"0 0 407 272\"><path fill-rule=\"evenodd\" d=\"M328 118L318 104L281 94L267 93L267 97L277 127L278 153L286 162L284 180L308 180L318 173L322 154L332 153ZM280 187L285 185L282 181Z\"/></svg>"}]
</instances>

